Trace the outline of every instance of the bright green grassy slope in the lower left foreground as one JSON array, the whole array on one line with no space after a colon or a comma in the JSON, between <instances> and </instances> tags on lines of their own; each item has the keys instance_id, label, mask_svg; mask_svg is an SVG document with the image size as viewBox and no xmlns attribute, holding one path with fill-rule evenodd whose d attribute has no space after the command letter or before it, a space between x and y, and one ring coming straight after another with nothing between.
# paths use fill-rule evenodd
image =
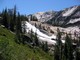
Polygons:
<instances>
[{"instance_id":1,"label":"bright green grassy slope in the lower left foreground","mask_svg":"<svg viewBox=\"0 0 80 60\"><path fill-rule=\"evenodd\" d=\"M39 48L17 44L15 35L6 28L0 27L0 59L4 60L53 60L48 53Z\"/></svg>"}]
</instances>

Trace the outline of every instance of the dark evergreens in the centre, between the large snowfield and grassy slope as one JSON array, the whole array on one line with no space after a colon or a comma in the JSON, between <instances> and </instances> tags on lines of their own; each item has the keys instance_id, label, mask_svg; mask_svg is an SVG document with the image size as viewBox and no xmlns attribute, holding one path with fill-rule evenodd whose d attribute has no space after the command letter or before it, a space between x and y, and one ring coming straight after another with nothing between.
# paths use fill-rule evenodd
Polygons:
<instances>
[{"instance_id":1,"label":"dark evergreens in the centre, between the large snowfield and grassy slope","mask_svg":"<svg viewBox=\"0 0 80 60\"><path fill-rule=\"evenodd\" d=\"M26 36L26 37L29 37L30 39L27 40L25 38L24 41L27 42L27 44L29 44L29 46L31 48L40 48L46 53L49 52L48 43L47 42L40 42L40 40L38 39L37 33L36 32L33 33L32 29L31 29L30 33L28 33L28 36Z\"/></svg>"}]
</instances>

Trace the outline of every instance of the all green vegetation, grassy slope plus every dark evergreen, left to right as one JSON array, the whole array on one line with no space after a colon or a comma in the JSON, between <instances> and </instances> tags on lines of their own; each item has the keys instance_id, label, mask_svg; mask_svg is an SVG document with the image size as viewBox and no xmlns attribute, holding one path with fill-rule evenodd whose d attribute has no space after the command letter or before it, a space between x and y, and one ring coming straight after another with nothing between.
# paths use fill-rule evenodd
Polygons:
<instances>
[{"instance_id":1,"label":"all green vegetation, grassy slope plus every dark evergreen, left to right","mask_svg":"<svg viewBox=\"0 0 80 60\"><path fill-rule=\"evenodd\" d=\"M20 15L16 6L13 10L6 8L0 16L0 60L80 60L80 37L76 33L75 46L75 38L73 40L67 33L63 44L62 32L57 29L56 45L54 51L50 51L47 42L38 40L37 33L33 30L26 33L25 21L28 18ZM36 17L31 16L30 19L37 21Z\"/></svg>"}]
</instances>

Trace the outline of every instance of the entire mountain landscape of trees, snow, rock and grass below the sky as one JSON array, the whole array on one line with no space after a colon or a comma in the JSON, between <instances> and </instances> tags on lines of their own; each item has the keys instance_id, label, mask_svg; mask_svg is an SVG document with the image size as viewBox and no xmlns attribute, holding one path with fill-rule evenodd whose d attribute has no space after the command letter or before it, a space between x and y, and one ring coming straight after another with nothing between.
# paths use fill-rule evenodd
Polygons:
<instances>
[{"instance_id":1,"label":"entire mountain landscape of trees, snow, rock and grass below the sky","mask_svg":"<svg viewBox=\"0 0 80 60\"><path fill-rule=\"evenodd\" d=\"M0 14L0 60L80 60L80 6L21 15ZM78 59L76 59L78 57Z\"/></svg>"}]
</instances>

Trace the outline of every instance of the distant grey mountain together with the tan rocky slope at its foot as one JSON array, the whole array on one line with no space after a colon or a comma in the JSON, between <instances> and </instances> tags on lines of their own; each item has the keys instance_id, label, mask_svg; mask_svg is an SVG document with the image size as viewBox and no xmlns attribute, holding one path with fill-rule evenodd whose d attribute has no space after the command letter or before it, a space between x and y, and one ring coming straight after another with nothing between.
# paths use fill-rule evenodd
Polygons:
<instances>
[{"instance_id":1,"label":"distant grey mountain together with the tan rocky slope at its foot","mask_svg":"<svg viewBox=\"0 0 80 60\"><path fill-rule=\"evenodd\" d=\"M37 21L31 19L31 24L37 24L38 28L41 24L44 30L51 34L56 34L57 28L62 32L80 34L80 5L71 6L60 11L47 11L32 14L37 18ZM39 22L39 24L38 24ZM52 33L53 34L53 33Z\"/></svg>"}]
</instances>

